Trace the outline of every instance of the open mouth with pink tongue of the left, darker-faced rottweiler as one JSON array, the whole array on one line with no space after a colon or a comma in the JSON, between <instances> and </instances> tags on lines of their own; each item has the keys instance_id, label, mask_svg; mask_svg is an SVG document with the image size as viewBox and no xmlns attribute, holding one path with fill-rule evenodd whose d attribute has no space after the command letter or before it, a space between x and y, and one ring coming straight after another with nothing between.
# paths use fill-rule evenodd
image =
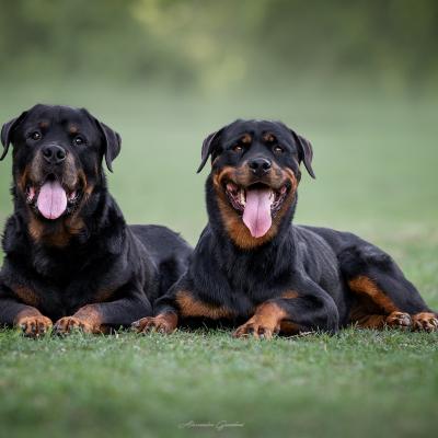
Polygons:
<instances>
[{"instance_id":1,"label":"open mouth with pink tongue of the left, darker-faced rottweiler","mask_svg":"<svg viewBox=\"0 0 438 438\"><path fill-rule=\"evenodd\" d=\"M26 187L27 204L46 219L55 220L74 211L81 191L68 189L54 174L47 175L43 184Z\"/></svg>"}]
</instances>

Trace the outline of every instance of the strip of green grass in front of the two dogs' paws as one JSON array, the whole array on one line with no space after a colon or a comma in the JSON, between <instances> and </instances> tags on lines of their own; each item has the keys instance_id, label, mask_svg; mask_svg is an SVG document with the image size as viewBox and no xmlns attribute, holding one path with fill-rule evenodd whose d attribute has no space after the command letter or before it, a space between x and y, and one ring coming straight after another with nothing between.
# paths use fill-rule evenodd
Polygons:
<instances>
[{"instance_id":1,"label":"strip of green grass in front of the two dogs' paws","mask_svg":"<svg viewBox=\"0 0 438 438\"><path fill-rule=\"evenodd\" d=\"M434 436L436 334L346 330L31 342L0 333L8 436ZM191 424L242 424L218 431Z\"/></svg>"}]
</instances>

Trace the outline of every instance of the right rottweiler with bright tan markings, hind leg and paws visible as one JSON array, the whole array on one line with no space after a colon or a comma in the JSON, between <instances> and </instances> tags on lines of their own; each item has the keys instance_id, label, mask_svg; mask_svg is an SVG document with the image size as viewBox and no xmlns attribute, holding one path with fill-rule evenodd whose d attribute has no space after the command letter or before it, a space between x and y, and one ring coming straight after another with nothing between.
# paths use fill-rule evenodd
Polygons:
<instances>
[{"instance_id":1,"label":"right rottweiler with bright tan markings, hind leg and paws visible","mask_svg":"<svg viewBox=\"0 0 438 438\"><path fill-rule=\"evenodd\" d=\"M198 172L209 155L209 222L139 332L194 319L256 338L347 324L437 330L437 313L388 254L348 232L292 224L300 164L314 177L308 140L281 123L237 120L205 139Z\"/></svg>"}]
</instances>

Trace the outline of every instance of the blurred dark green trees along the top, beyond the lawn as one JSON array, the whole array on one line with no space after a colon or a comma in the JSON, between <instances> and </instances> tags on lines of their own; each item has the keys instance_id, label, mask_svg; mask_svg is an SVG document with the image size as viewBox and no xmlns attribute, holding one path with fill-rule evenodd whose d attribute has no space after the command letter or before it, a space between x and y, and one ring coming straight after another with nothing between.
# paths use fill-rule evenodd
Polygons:
<instances>
[{"instance_id":1,"label":"blurred dark green trees along the top, beyond the lawn","mask_svg":"<svg viewBox=\"0 0 438 438\"><path fill-rule=\"evenodd\" d=\"M436 0L0 0L0 74L438 84Z\"/></svg>"}]
</instances>

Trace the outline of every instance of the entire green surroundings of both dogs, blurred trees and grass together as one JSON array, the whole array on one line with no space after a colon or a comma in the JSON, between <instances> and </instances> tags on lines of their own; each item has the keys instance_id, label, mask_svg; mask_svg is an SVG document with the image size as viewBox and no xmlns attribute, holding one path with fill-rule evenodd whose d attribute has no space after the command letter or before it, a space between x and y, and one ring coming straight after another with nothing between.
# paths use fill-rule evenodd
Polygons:
<instances>
[{"instance_id":1,"label":"entire green surroundings of both dogs, blurred trees and grass together","mask_svg":"<svg viewBox=\"0 0 438 438\"><path fill-rule=\"evenodd\" d=\"M0 0L0 122L85 106L120 132L111 191L130 223L193 244L203 139L238 117L312 141L297 222L389 251L438 309L436 0ZM0 222L12 211L0 170ZM437 429L437 336L229 333L32 343L0 332L9 436L396 436ZM243 430L176 430L187 420ZM100 434L97 434L97 429ZM1 435L1 433L0 433Z\"/></svg>"}]
</instances>

